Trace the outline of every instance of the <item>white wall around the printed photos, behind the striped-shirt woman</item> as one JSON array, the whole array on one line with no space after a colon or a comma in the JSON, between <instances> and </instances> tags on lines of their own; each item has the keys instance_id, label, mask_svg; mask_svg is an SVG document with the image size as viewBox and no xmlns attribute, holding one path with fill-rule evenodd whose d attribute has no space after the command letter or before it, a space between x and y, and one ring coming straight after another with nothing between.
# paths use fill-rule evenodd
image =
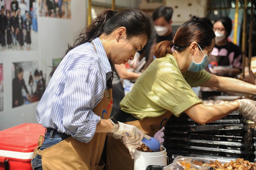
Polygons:
<instances>
[{"instance_id":1,"label":"white wall around the printed photos, behind the striped-shirt woman","mask_svg":"<svg viewBox=\"0 0 256 170\"><path fill-rule=\"evenodd\" d=\"M31 51L1 51L0 64L3 64L3 111L0 112L0 130L22 123L37 123L35 108L38 102L12 108L12 63L38 61L48 82L53 58L62 58L67 43L73 43L80 29L85 27L85 0L71 0L71 19L38 17L38 48ZM25 47L25 46L24 46ZM1 103L1 102L0 102Z\"/></svg>"}]
</instances>

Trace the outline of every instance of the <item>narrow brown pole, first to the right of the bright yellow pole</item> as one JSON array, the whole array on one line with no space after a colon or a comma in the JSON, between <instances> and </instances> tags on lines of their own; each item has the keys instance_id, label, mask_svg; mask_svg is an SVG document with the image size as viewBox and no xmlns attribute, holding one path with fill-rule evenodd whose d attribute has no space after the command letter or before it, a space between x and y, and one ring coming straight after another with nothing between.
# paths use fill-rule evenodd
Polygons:
<instances>
[{"instance_id":1,"label":"narrow brown pole, first to the right of the bright yellow pole","mask_svg":"<svg viewBox=\"0 0 256 170\"><path fill-rule=\"evenodd\" d=\"M244 19L243 19L243 32L242 32L242 57L243 57L243 68L242 68L242 76L245 76L244 68L246 65L246 18L247 18L247 0L244 0Z\"/></svg>"}]
</instances>

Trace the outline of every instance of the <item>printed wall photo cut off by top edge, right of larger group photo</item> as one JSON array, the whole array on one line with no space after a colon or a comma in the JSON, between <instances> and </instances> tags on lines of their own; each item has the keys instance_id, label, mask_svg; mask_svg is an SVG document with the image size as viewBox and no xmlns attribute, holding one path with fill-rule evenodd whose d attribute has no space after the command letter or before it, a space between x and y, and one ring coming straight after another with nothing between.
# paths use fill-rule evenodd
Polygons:
<instances>
[{"instance_id":1,"label":"printed wall photo cut off by top edge, right of larger group photo","mask_svg":"<svg viewBox=\"0 0 256 170\"><path fill-rule=\"evenodd\" d=\"M71 19L71 0L38 0L39 16Z\"/></svg>"}]
</instances>

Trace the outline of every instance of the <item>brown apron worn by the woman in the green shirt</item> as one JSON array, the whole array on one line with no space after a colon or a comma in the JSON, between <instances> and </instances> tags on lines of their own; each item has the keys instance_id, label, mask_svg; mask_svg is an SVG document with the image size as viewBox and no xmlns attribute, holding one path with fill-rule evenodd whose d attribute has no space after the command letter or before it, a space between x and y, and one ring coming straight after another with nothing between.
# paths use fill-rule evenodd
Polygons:
<instances>
[{"instance_id":1,"label":"brown apron worn by the woman in the green shirt","mask_svg":"<svg viewBox=\"0 0 256 170\"><path fill-rule=\"evenodd\" d=\"M156 118L145 118L144 120L136 120L125 122L126 124L135 125L149 136L154 136L157 131L162 129L171 117L172 113L167 111L163 115ZM131 159L129 150L119 139L107 137L107 166L106 170L133 170L134 160Z\"/></svg>"}]
</instances>

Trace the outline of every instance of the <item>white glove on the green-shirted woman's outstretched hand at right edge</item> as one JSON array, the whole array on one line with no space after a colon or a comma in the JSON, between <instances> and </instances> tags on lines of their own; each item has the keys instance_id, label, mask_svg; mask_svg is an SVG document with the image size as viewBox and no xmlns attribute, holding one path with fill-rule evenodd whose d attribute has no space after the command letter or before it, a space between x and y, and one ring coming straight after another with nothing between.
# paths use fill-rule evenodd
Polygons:
<instances>
[{"instance_id":1,"label":"white glove on the green-shirted woman's outstretched hand at right edge","mask_svg":"<svg viewBox=\"0 0 256 170\"><path fill-rule=\"evenodd\" d=\"M240 106L238 111L248 120L256 122L256 102L249 99L239 99Z\"/></svg>"}]
</instances>

